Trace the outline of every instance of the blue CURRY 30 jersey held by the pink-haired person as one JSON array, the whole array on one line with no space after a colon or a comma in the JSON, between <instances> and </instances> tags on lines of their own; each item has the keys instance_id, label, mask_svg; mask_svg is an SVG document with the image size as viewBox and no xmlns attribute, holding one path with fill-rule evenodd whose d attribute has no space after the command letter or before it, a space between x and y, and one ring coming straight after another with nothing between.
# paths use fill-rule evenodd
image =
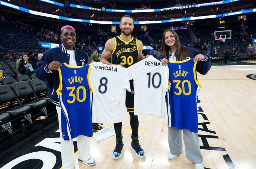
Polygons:
<instances>
[{"instance_id":1,"label":"blue CURRY 30 jersey held by the pink-haired person","mask_svg":"<svg viewBox=\"0 0 256 169\"><path fill-rule=\"evenodd\" d=\"M62 63L59 68L60 84L57 89L61 108L61 132L64 140L79 135L91 137L89 77L90 66L69 66Z\"/></svg>"}]
</instances>

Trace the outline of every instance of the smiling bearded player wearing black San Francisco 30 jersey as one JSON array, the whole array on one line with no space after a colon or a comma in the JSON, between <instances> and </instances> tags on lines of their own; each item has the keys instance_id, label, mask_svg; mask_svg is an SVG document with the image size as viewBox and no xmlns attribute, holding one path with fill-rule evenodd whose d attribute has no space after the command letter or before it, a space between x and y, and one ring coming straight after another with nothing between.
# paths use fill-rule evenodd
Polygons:
<instances>
[{"instance_id":1,"label":"smiling bearded player wearing black San Francisco 30 jersey","mask_svg":"<svg viewBox=\"0 0 256 169\"><path fill-rule=\"evenodd\" d=\"M102 52L100 61L108 65L120 65L121 67L128 68L130 65L143 60L142 50L143 44L140 40L131 36L134 28L134 20L131 16L125 15L121 18L119 27L121 29L121 35L109 39L105 44L105 49ZM111 63L107 60L110 57ZM130 81L131 92L126 91L126 108L131 117L130 125L132 130L131 150L136 152L139 158L145 157L145 152L139 144L138 128L139 120L138 116L134 115L134 88L133 81ZM122 155L124 150L123 136L122 136L122 122L115 123L114 129L116 133L116 147L112 154L112 158L118 159Z\"/></svg>"}]
</instances>

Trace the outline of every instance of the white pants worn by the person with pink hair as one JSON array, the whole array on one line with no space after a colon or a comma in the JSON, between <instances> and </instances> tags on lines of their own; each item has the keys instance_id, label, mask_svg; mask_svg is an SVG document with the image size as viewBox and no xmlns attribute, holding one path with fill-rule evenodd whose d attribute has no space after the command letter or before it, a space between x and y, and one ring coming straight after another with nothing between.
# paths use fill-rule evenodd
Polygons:
<instances>
[{"instance_id":1,"label":"white pants worn by the person with pink hair","mask_svg":"<svg viewBox=\"0 0 256 169\"><path fill-rule=\"evenodd\" d=\"M60 147L61 147L61 162L63 169L74 169L75 167L75 155L74 145L72 140L64 140L61 135L61 114L60 107L56 106L59 120L59 132L60 132ZM86 161L90 158L90 137L80 135L76 137L78 158Z\"/></svg>"}]
</instances>

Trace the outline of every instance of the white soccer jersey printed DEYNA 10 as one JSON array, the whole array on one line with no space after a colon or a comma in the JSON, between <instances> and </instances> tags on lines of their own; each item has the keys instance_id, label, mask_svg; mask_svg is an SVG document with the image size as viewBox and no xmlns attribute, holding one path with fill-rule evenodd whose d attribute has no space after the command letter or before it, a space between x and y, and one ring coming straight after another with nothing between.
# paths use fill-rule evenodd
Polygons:
<instances>
[{"instance_id":1,"label":"white soccer jersey printed DEYNA 10","mask_svg":"<svg viewBox=\"0 0 256 169\"><path fill-rule=\"evenodd\" d=\"M150 56L128 68L134 84L134 115L165 117L165 94L168 90L167 66Z\"/></svg>"}]
</instances>

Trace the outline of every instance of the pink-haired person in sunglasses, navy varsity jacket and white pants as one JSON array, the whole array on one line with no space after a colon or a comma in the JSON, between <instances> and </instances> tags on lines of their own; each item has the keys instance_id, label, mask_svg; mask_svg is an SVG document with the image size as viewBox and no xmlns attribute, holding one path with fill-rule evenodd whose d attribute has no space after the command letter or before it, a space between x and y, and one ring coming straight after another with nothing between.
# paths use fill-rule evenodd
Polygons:
<instances>
[{"instance_id":1,"label":"pink-haired person in sunglasses, navy varsity jacket and white pants","mask_svg":"<svg viewBox=\"0 0 256 169\"><path fill-rule=\"evenodd\" d=\"M64 140L61 131L61 109L56 90L59 86L58 69L61 63L67 63L70 66L84 66L88 62L87 54L74 47L76 40L75 29L66 25L61 28L60 39L63 44L57 48L49 49L44 52L41 61L36 69L36 75L40 80L47 81L47 94L56 105L59 129L60 129L60 146L61 160L63 169L74 169L75 156L73 140ZM80 135L77 137L77 147L79 149L79 162L88 166L95 165L95 161L90 158L90 139Z\"/></svg>"}]
</instances>

